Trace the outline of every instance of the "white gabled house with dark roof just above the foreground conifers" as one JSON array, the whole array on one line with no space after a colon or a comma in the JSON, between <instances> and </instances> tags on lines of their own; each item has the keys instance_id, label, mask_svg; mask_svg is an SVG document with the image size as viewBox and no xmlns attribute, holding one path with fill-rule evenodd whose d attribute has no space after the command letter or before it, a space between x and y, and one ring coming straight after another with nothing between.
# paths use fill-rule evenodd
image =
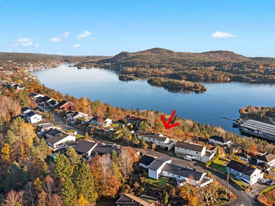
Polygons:
<instances>
[{"instance_id":1,"label":"white gabled house with dark roof just above the foreground conifers","mask_svg":"<svg viewBox=\"0 0 275 206\"><path fill-rule=\"evenodd\" d=\"M76 137L68 135L62 130L50 129L45 133L46 136L49 137L49 139L46 139L45 141L49 148L54 152L57 150L67 149L69 146L76 146Z\"/></svg>"}]
</instances>

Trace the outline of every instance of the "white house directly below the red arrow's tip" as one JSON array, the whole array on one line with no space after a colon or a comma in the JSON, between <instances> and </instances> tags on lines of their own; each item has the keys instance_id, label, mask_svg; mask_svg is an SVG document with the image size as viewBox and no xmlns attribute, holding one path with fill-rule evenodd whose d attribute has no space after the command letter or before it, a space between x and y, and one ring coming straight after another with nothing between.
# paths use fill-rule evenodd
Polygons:
<instances>
[{"instance_id":1,"label":"white house directly below the red arrow's tip","mask_svg":"<svg viewBox=\"0 0 275 206\"><path fill-rule=\"evenodd\" d=\"M145 141L154 143L156 146L166 150L170 150L176 143L176 141L170 141L169 137L165 137L162 134L140 131L140 133L137 134L137 139L142 139L142 136Z\"/></svg>"}]
</instances>

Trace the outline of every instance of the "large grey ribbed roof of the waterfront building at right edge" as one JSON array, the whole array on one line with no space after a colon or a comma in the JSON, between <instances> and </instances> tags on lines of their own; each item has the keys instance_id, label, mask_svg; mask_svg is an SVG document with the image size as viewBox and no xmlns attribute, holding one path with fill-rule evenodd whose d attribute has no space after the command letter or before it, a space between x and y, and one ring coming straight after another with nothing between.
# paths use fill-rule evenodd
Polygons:
<instances>
[{"instance_id":1,"label":"large grey ribbed roof of the waterfront building at right edge","mask_svg":"<svg viewBox=\"0 0 275 206\"><path fill-rule=\"evenodd\" d=\"M275 125L272 125L272 124L267 124L264 122L259 122L253 119L249 119L248 121L245 121L240 126L243 128L248 128L250 130L259 130L262 133L265 133L267 135L275 136Z\"/></svg>"}]
</instances>

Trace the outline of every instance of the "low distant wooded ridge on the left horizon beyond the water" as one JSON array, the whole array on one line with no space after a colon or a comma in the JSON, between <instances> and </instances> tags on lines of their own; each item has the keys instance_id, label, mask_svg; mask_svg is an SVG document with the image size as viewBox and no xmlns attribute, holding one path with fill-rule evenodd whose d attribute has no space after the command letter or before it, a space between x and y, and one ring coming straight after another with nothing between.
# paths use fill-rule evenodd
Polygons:
<instances>
[{"instance_id":1,"label":"low distant wooded ridge on the left horizon beyond the water","mask_svg":"<svg viewBox=\"0 0 275 206\"><path fill-rule=\"evenodd\" d=\"M67 62L91 62L102 60L110 56L63 56L54 54L31 54L31 53L14 53L0 52L0 63L17 62L17 63L36 63L47 61L67 61Z\"/></svg>"}]
</instances>

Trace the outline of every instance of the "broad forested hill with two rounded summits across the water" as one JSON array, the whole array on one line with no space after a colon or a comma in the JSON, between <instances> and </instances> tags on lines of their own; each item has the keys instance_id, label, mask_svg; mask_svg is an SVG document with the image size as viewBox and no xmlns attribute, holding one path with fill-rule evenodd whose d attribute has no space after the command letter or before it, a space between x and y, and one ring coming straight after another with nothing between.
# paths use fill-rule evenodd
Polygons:
<instances>
[{"instance_id":1,"label":"broad forested hill with two rounded summits across the water","mask_svg":"<svg viewBox=\"0 0 275 206\"><path fill-rule=\"evenodd\" d=\"M99 60L100 64L112 64L135 68L183 69L188 67L270 67L275 58L249 58L234 52L212 51L203 53L173 52L153 48L141 52L120 52L113 58ZM228 63L230 65L228 65Z\"/></svg>"}]
</instances>

